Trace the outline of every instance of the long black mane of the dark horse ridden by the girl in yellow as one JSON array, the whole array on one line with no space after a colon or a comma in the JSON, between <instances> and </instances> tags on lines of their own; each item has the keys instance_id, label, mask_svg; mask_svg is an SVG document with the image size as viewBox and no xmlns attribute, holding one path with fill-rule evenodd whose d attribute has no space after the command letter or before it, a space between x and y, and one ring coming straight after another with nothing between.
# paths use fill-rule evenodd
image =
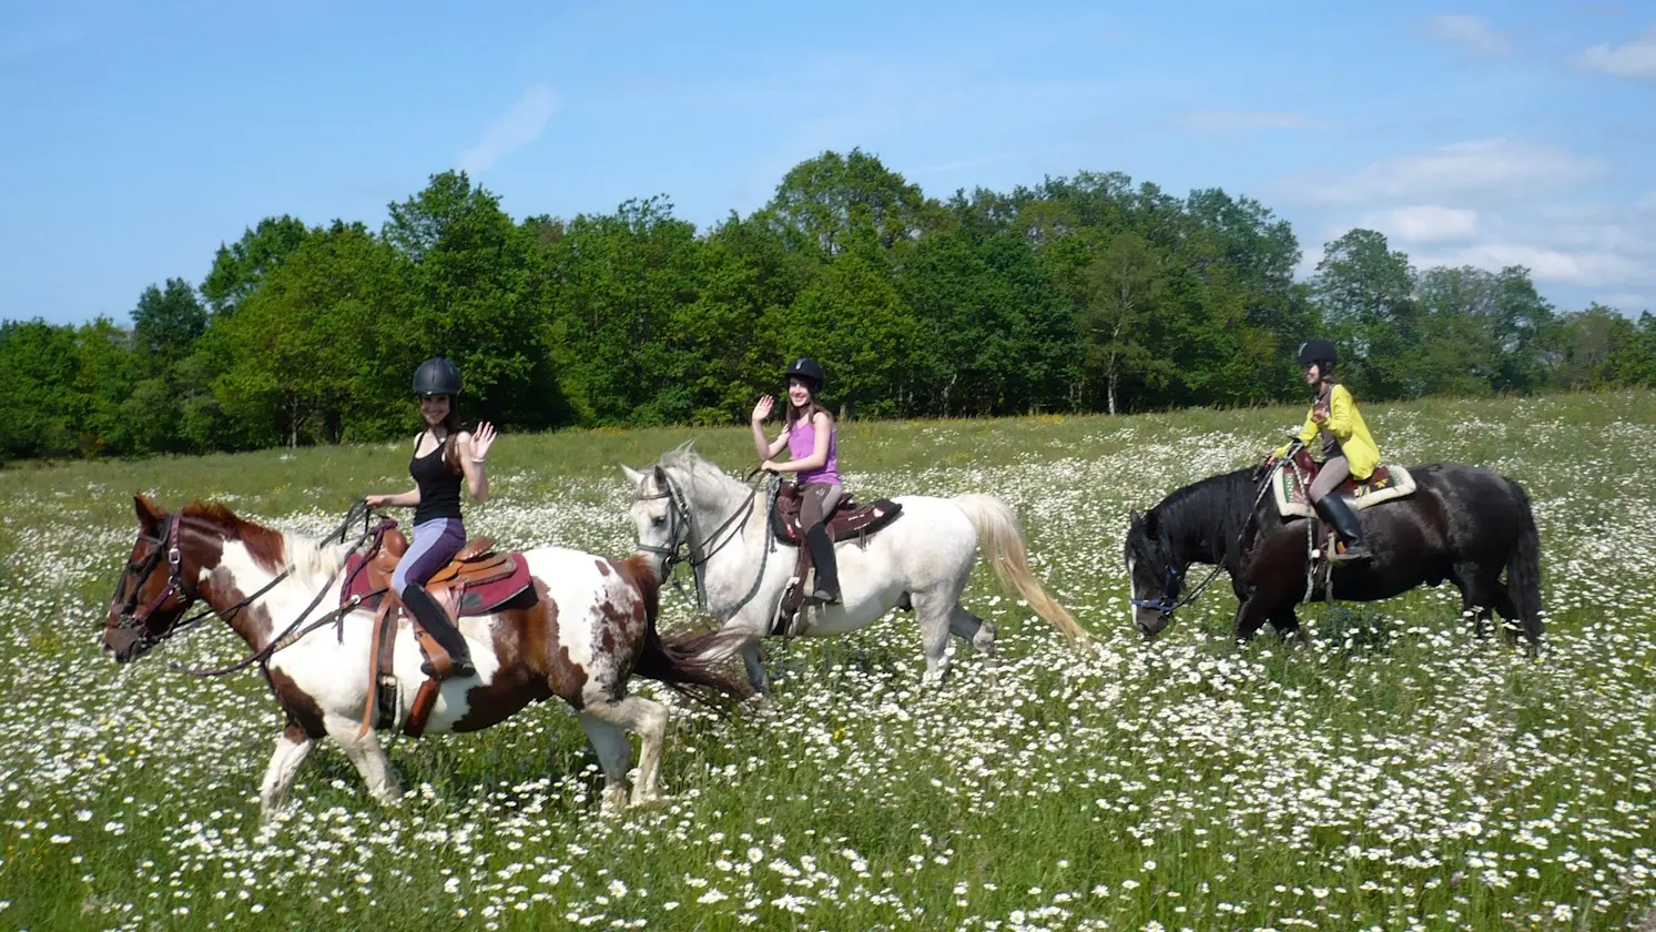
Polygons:
<instances>
[{"instance_id":1,"label":"long black mane of the dark horse ridden by the girl in yellow","mask_svg":"<svg viewBox=\"0 0 1656 932\"><path fill-rule=\"evenodd\" d=\"M1172 558L1176 541L1201 540L1222 561L1247 526L1257 493L1252 467L1176 488L1143 515L1138 528L1128 530L1124 556L1148 566L1164 566Z\"/></svg>"}]
</instances>

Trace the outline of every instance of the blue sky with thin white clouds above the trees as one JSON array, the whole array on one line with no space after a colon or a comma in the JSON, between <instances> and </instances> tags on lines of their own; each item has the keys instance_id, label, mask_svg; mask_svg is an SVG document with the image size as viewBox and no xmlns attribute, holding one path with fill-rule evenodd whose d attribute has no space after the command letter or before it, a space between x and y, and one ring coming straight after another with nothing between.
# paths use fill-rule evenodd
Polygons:
<instances>
[{"instance_id":1,"label":"blue sky with thin white clouds above the trees","mask_svg":"<svg viewBox=\"0 0 1656 932\"><path fill-rule=\"evenodd\" d=\"M1368 225L1656 311L1648 2L7 0L0 113L12 319L126 323L260 217L378 228L450 167L513 217L707 225L856 146L936 197L1121 171L1260 199L1305 270Z\"/></svg>"}]
</instances>

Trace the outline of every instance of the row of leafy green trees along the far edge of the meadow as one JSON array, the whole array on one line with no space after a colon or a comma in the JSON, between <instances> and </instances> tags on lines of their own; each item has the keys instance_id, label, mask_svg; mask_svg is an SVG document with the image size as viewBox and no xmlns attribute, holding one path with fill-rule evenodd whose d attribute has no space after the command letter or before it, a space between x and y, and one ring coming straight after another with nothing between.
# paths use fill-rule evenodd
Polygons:
<instances>
[{"instance_id":1,"label":"row of leafy green trees along the far edge of the meadow","mask_svg":"<svg viewBox=\"0 0 1656 932\"><path fill-rule=\"evenodd\" d=\"M705 230L664 197L513 220L444 172L378 232L263 219L131 326L0 323L0 459L404 435L434 354L508 430L740 422L802 354L853 417L1298 399L1317 334L1365 401L1656 382L1656 318L1562 311L1522 267L1418 270L1361 228L1300 258L1257 200L1116 172L937 200L825 152Z\"/></svg>"}]
</instances>

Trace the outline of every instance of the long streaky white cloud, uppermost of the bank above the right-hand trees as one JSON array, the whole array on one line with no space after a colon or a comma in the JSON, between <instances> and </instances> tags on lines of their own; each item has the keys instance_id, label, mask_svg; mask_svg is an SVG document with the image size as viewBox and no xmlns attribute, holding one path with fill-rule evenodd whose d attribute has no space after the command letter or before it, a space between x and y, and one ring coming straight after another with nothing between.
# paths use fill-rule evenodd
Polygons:
<instances>
[{"instance_id":1,"label":"long streaky white cloud, uppermost of the bank above the right-hand trees","mask_svg":"<svg viewBox=\"0 0 1656 932\"><path fill-rule=\"evenodd\" d=\"M1356 172L1303 174L1283 182L1308 204L1454 200L1466 195L1528 195L1575 187L1601 174L1601 161L1519 139L1456 142L1432 152L1373 162Z\"/></svg>"}]
</instances>

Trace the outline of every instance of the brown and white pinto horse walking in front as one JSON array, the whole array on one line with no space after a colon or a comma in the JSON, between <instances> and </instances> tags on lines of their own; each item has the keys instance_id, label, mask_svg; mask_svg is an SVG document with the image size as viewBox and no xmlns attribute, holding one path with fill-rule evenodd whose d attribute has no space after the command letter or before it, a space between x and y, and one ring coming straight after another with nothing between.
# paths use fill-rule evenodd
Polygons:
<instances>
[{"instance_id":1,"label":"brown and white pinto horse walking in front","mask_svg":"<svg viewBox=\"0 0 1656 932\"><path fill-rule=\"evenodd\" d=\"M167 515L144 497L134 497L134 503L139 535L103 632L104 649L118 662L171 637L195 601L212 606L255 652L270 647L300 614L320 619L338 604L338 594L325 588L331 588L351 545L285 535L222 505L195 502ZM631 801L656 798L667 709L628 695L633 674L729 695L745 690L662 642L656 632L659 579L646 560L616 563L551 546L525 551L523 558L538 598L530 608L460 619L477 675L442 682L426 730L475 732L556 695L580 713L598 752L603 809L618 813L628 805L628 730L641 738ZM373 614L358 609L343 617L338 631L325 624L263 662L286 727L265 771L262 816L283 805L300 765L325 735L339 742L374 798L388 805L401 800L402 788L378 735L358 733L368 700L371 627ZM396 634L397 720L407 715L426 679L419 665L421 652L404 619Z\"/></svg>"}]
</instances>

